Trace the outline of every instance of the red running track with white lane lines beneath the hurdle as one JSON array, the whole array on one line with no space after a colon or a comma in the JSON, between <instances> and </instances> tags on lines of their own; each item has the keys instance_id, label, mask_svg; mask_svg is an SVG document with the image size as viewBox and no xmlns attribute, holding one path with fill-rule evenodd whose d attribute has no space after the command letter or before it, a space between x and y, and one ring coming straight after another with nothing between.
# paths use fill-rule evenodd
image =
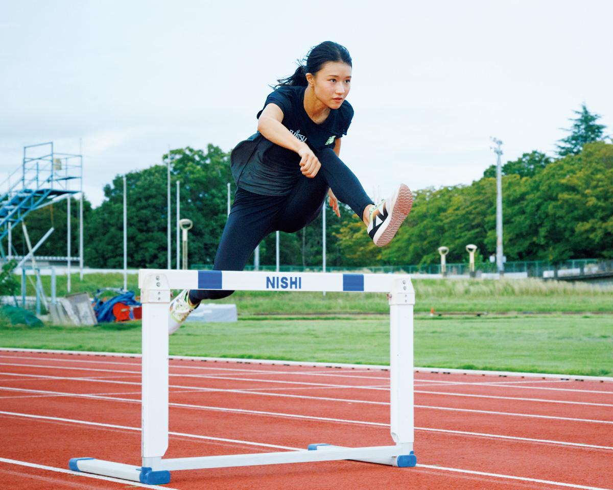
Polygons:
<instances>
[{"instance_id":1,"label":"red running track with white lane lines beneath the hurdle","mask_svg":"<svg viewBox=\"0 0 613 490\"><path fill-rule=\"evenodd\" d=\"M170 366L168 458L392 443L387 371ZM613 383L419 372L415 404L415 468L178 471L164 488L613 489ZM0 352L0 429L0 488L156 488L67 470L75 457L140 464L139 358Z\"/></svg>"}]
</instances>

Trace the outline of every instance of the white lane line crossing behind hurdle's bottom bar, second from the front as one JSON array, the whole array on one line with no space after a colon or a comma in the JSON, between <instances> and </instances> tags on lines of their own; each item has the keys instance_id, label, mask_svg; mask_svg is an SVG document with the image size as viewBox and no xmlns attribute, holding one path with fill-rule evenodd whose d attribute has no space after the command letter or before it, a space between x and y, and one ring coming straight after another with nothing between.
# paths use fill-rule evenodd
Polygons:
<instances>
[{"instance_id":1,"label":"white lane line crossing behind hurdle's bottom bar, second from the front","mask_svg":"<svg viewBox=\"0 0 613 490\"><path fill-rule=\"evenodd\" d=\"M8 415L13 415L13 416L24 416L24 417L29 417L29 418L37 418L37 419L43 419L43 420L66 421L66 422L69 422L69 423L80 423L80 424L86 424L86 425L90 425L90 426L101 426L101 427L108 427L108 428L125 429L125 430L129 430L129 431L140 431L140 428L136 428L136 427L118 426L118 425L113 425L113 424L103 424L103 423L96 423L96 422L89 422L89 421L82 421L82 420L73 420L73 419L67 419L67 418L58 418L58 417L50 417L50 416L42 416L42 415L29 415L29 414L26 414L26 413L11 413L11 412L0 412L0 413L6 413ZM428 429L424 429L424 430L428 430ZM244 441L244 440L222 439L222 438L219 438L219 437L207 437L207 436L204 436L204 435L185 434L185 433L181 433L181 432L169 432L169 434L179 435L179 436L183 436L183 437L194 437L196 439L208 439L208 440L216 440L216 441L222 441L222 442L235 442L235 443L240 443L240 444L245 444L245 445L261 446L261 447L267 447L267 448L280 448L280 449L294 450L294 451L295 450L303 449L303 448L294 448L294 447L287 447L287 446L279 446L279 445L272 445L272 444L250 442L250 441ZM433 465L427 465L427 464L417 464L417 467L434 469L434 470L441 470L441 471L449 471L449 472L469 473L469 474L473 474L473 475L481 475L481 476L495 477L495 478L508 478L508 479L511 479L511 480L532 481L532 482L535 482L535 483L544 483L544 484L551 484L551 485L557 485L557 486L565 486L565 487L569 487L569 488L579 488L579 489L582 489L582 490L611 490L611 489L596 488L596 487L590 487L590 486L584 486L584 485L576 485L576 484L571 484L571 483L561 483L561 482L550 481L550 480L536 480L535 478L515 477L513 475L502 475L500 473L486 473L486 472L478 472L478 471L473 471L473 470L463 470L463 469L458 469L458 468L449 468L449 467L444 467L444 466L433 466ZM63 470L63 471L69 472L69 470ZM70 473L72 473L72 472L70 472ZM168 487L159 487L159 488L160 489L163 489L163 488L167 489Z\"/></svg>"}]
</instances>

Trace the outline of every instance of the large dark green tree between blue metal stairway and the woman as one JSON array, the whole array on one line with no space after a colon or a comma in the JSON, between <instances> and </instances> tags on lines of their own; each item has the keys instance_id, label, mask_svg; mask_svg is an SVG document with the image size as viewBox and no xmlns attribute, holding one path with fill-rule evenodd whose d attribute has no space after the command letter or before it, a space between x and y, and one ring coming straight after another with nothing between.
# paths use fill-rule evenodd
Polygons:
<instances>
[{"instance_id":1,"label":"large dark green tree between blue metal stairway and the woman","mask_svg":"<svg viewBox=\"0 0 613 490\"><path fill-rule=\"evenodd\" d=\"M167 155L163 159L167 159ZM189 231L189 263L212 264L226 222L226 183L232 181L229 156L216 146L207 153L193 148L170 151L172 217L171 258L175 266L175 182L181 181L181 217L194 222ZM167 170L154 165L126 175L128 265L166 268ZM104 187L105 200L88 224L86 263L92 267L123 266L123 177Z\"/></svg>"}]
</instances>

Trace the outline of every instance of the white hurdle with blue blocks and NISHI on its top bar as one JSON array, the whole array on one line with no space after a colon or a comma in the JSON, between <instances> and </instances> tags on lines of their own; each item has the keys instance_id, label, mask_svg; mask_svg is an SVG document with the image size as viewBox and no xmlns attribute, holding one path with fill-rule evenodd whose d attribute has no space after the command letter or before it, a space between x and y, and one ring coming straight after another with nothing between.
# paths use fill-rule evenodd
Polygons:
<instances>
[{"instance_id":1,"label":"white hurdle with blue blocks and NISHI on its top bar","mask_svg":"<svg viewBox=\"0 0 613 490\"><path fill-rule=\"evenodd\" d=\"M142 464L72 458L69 468L147 484L170 483L170 472L349 459L413 467L413 305L406 274L278 273L140 269L142 309ZM169 303L172 289L387 293L390 308L390 434L393 445L164 458L169 442Z\"/></svg>"}]
</instances>

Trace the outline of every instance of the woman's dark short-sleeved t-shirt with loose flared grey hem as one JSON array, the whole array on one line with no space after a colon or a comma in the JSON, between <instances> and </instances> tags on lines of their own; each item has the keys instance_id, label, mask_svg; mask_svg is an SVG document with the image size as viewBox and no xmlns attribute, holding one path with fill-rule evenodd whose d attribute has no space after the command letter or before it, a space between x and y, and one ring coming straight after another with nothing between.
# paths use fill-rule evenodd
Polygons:
<instances>
[{"instance_id":1,"label":"woman's dark short-sleeved t-shirt with loose flared grey hem","mask_svg":"<svg viewBox=\"0 0 613 490\"><path fill-rule=\"evenodd\" d=\"M271 103L278 105L283 111L283 126L317 154L325 148L334 148L336 138L347 134L353 108L345 100L340 108L330 109L326 121L316 124L304 108L305 89L303 86L280 86L266 98L264 107ZM263 110L257 113L257 118ZM238 185L255 194L286 195L302 177L299 154L273 144L261 161L246 165Z\"/></svg>"}]
</instances>

